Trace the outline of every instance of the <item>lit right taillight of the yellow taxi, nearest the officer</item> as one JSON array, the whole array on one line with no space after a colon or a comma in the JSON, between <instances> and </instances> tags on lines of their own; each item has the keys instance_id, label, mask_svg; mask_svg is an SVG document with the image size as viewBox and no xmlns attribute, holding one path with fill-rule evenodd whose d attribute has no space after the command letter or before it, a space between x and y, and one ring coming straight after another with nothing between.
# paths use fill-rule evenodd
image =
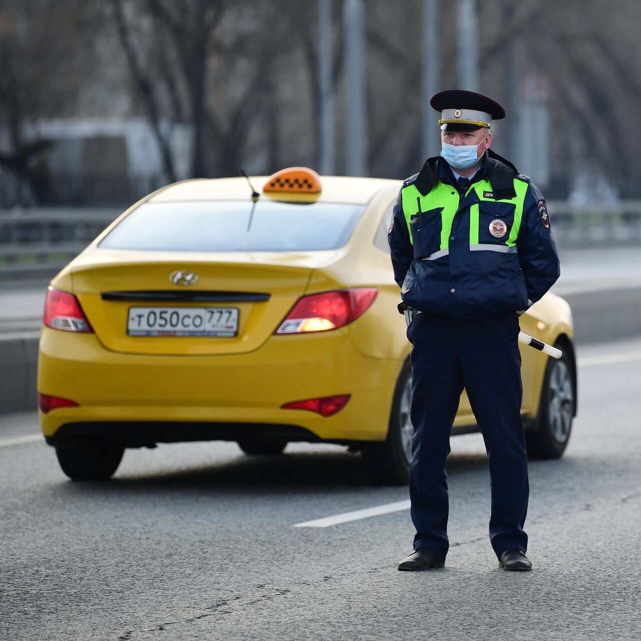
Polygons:
<instances>
[{"instance_id":1,"label":"lit right taillight of the yellow taxi, nearest the officer","mask_svg":"<svg viewBox=\"0 0 641 641\"><path fill-rule=\"evenodd\" d=\"M374 303L376 289L342 289L303 296L274 333L337 329L356 320Z\"/></svg>"}]
</instances>

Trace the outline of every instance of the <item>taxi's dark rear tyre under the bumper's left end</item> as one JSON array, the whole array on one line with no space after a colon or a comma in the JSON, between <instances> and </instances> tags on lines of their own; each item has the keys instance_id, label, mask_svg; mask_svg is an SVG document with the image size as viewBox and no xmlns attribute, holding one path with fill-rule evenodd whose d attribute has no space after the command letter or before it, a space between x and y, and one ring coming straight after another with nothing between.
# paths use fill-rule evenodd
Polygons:
<instances>
[{"instance_id":1,"label":"taxi's dark rear tyre under the bumper's left end","mask_svg":"<svg viewBox=\"0 0 641 641\"><path fill-rule=\"evenodd\" d=\"M62 471L72 481L104 481L118 469L124 445L87 442L73 446L56 446Z\"/></svg>"}]
</instances>

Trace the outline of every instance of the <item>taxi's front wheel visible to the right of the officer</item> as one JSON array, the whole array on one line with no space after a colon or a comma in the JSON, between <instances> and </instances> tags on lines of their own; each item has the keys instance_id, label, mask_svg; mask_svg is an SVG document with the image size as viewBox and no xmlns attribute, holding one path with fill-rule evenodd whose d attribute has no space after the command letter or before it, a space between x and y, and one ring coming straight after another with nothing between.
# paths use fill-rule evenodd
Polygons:
<instances>
[{"instance_id":1,"label":"taxi's front wheel visible to the right of the officer","mask_svg":"<svg viewBox=\"0 0 641 641\"><path fill-rule=\"evenodd\" d=\"M563 345L554 347L563 349ZM543 378L537 428L525 433L528 458L560 458L570 440L576 399L572 357L564 350L558 360L548 358Z\"/></svg>"}]
</instances>

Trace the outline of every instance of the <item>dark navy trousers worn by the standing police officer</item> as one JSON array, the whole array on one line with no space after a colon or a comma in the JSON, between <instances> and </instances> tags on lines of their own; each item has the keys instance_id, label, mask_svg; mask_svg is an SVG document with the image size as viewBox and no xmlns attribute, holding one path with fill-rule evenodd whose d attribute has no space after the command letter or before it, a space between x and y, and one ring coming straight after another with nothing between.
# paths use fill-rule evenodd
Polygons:
<instances>
[{"instance_id":1,"label":"dark navy trousers worn by the standing police officer","mask_svg":"<svg viewBox=\"0 0 641 641\"><path fill-rule=\"evenodd\" d=\"M444 559L450 430L463 387L487 449L492 485L490 542L497 556L526 552L528 458L520 404L523 390L515 313L456 322L419 314L408 328L412 342L414 426L410 499L414 548Z\"/></svg>"}]
</instances>

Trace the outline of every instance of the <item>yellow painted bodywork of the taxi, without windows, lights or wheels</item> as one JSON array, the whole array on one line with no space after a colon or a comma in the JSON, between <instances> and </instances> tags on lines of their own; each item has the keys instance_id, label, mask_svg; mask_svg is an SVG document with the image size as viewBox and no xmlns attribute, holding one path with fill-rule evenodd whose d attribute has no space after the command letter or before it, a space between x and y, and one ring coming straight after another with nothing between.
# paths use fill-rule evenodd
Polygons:
<instances>
[{"instance_id":1,"label":"yellow painted bodywork of the taxi, without windows, lights or wheels","mask_svg":"<svg viewBox=\"0 0 641 641\"><path fill-rule=\"evenodd\" d=\"M251 180L260 184L267 177ZM144 203L178 207L250 202L243 178L198 179L169 185L135 204L69 263L51 287L76 296L94 331L42 328L38 392L77 404L40 411L47 442L59 445L81 438L85 431L103 437L113 433L134 446L238 440L262 432L287 440L356 445L385 441L395 386L411 347L397 311L400 292L385 250L390 211L401 183L327 176L320 181L317 202L363 208L349 240L337 249L176 252L99 246ZM305 213L301 205L300 215ZM176 270L199 275L191 291L269 292L269 301L233 303L239 310L235 337L128 335L129 308L146 303L106 300L104 292L169 290L174 287L169 275ZM376 288L378 294L360 317L341 328L274 333L302 296L345 288ZM554 294L528 310L520 324L539 340L572 349L569 306ZM523 345L521 354L522 415L528 424L539 412L547 356ZM327 417L283 408L332 395L349 395L349 401ZM469 431L474 424L463 393L454 432Z\"/></svg>"}]
</instances>

